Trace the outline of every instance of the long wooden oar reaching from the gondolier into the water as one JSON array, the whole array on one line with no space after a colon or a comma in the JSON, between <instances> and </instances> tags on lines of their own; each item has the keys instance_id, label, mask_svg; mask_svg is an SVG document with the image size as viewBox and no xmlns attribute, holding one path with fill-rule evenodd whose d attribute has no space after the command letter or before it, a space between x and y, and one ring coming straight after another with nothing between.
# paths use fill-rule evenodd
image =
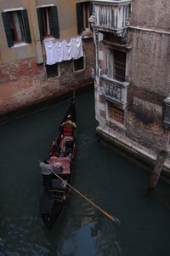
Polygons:
<instances>
[{"instance_id":1,"label":"long wooden oar reaching from the gondolier into the water","mask_svg":"<svg viewBox=\"0 0 170 256\"><path fill-rule=\"evenodd\" d=\"M65 180L62 177L59 177L58 174L56 174L55 172L53 172L54 175L56 177L58 177L61 181L65 182ZM111 216L109 213L105 212L102 208L100 208L99 206L97 206L96 204L94 204L93 201L89 200L88 197L86 197L85 195L82 195L82 193L80 191L78 191L77 189L73 188L69 183L65 182L67 184L67 186L69 186L71 189L73 189L75 192L77 192L78 195L81 195L86 201L88 201L91 205L93 205L95 208L97 208L100 212L102 212L103 214L105 214L105 216L107 218L110 218L111 221L114 221L117 223L117 219L113 218L113 216Z\"/></svg>"}]
</instances>

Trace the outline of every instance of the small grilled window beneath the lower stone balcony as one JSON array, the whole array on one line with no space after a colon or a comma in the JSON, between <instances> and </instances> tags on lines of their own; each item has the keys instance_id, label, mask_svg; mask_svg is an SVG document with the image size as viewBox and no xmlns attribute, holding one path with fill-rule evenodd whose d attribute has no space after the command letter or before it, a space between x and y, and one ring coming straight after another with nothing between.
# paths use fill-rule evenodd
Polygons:
<instances>
[{"instance_id":1,"label":"small grilled window beneath the lower stone balcony","mask_svg":"<svg viewBox=\"0 0 170 256\"><path fill-rule=\"evenodd\" d=\"M117 108L113 103L108 102L108 113L111 119L124 125L124 111L122 109Z\"/></svg>"}]
</instances>

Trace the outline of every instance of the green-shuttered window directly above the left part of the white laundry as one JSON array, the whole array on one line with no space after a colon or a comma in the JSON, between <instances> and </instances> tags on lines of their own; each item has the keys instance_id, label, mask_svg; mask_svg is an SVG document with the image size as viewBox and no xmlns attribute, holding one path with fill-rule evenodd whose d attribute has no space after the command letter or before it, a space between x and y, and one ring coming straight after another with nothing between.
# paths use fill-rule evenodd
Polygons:
<instances>
[{"instance_id":1,"label":"green-shuttered window directly above the left part of the white laundry","mask_svg":"<svg viewBox=\"0 0 170 256\"><path fill-rule=\"evenodd\" d=\"M56 6L38 8L37 19L41 41L46 37L59 38L59 22Z\"/></svg>"}]
</instances>

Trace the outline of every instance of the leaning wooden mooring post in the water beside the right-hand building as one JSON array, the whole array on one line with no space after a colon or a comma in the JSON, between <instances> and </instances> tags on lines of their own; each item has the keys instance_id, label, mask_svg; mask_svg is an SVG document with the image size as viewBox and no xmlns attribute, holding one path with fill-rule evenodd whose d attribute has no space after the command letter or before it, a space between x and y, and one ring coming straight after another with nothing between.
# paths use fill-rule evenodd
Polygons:
<instances>
[{"instance_id":1,"label":"leaning wooden mooring post in the water beside the right-hand building","mask_svg":"<svg viewBox=\"0 0 170 256\"><path fill-rule=\"evenodd\" d=\"M156 188L156 184L159 180L161 170L163 168L165 160L167 159L167 155L168 155L167 150L161 150L157 154L156 165L154 167L154 171L151 173L150 184L149 184L148 189L145 193L145 196L149 195Z\"/></svg>"}]
</instances>

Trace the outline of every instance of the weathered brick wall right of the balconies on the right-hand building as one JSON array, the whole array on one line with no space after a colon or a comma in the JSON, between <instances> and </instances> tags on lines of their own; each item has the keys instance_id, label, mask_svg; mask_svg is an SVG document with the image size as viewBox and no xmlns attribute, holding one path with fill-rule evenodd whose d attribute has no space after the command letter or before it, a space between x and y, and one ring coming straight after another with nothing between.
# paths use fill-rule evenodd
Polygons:
<instances>
[{"instance_id":1,"label":"weathered brick wall right of the balconies on the right-hand building","mask_svg":"<svg viewBox=\"0 0 170 256\"><path fill-rule=\"evenodd\" d=\"M163 127L163 100L170 93L170 28L169 1L133 2L127 55L128 90L127 137L146 148L158 150L167 144ZM146 28L144 31L143 29ZM154 32L149 30L161 30Z\"/></svg>"}]
</instances>

